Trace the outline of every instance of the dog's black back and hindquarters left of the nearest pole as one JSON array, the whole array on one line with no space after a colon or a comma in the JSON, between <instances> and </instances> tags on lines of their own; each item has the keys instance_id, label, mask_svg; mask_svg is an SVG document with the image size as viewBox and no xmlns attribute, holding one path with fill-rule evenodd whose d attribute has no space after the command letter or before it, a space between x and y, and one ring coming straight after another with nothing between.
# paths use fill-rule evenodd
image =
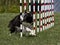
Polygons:
<instances>
[{"instance_id":1,"label":"dog's black back and hindquarters left of the nearest pole","mask_svg":"<svg viewBox=\"0 0 60 45\"><path fill-rule=\"evenodd\" d=\"M10 32L13 33L15 32L16 28L15 26L20 27L20 24L22 22L20 22L20 15L16 16L15 18L13 18L10 22L9 22L9 28L10 28Z\"/></svg>"}]
</instances>

